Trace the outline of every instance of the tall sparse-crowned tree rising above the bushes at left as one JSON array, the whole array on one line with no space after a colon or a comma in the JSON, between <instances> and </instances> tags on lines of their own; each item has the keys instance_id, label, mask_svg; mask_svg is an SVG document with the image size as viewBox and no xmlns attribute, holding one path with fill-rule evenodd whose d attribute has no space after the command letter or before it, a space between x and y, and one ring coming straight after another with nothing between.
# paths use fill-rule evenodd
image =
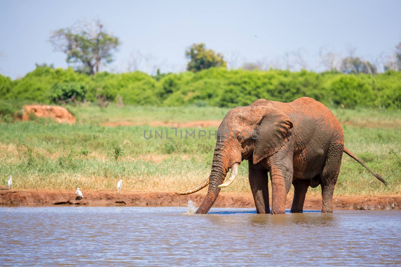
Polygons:
<instances>
[{"instance_id":1,"label":"tall sparse-crowned tree rising above the bushes at left","mask_svg":"<svg viewBox=\"0 0 401 267\"><path fill-rule=\"evenodd\" d=\"M113 50L117 49L117 37L103 31L98 20L91 24L77 22L70 28L56 30L49 42L57 52L67 54L67 63L81 63L77 70L88 74L99 72L102 62L113 62Z\"/></svg>"}]
</instances>

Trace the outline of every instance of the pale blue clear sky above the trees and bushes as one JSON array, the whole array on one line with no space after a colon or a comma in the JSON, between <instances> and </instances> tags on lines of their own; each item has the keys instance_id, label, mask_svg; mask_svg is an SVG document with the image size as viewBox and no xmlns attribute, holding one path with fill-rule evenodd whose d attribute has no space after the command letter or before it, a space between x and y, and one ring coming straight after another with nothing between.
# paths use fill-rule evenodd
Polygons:
<instances>
[{"instance_id":1,"label":"pale blue clear sky above the trees and bushes","mask_svg":"<svg viewBox=\"0 0 401 267\"><path fill-rule=\"evenodd\" d=\"M35 63L67 67L53 52L52 30L77 20L99 19L120 38L115 62L103 70L122 72L140 51L140 69L185 70L185 49L208 48L243 62L276 62L300 51L309 70L319 70L319 51L346 56L349 48L365 60L385 58L401 42L399 1L2 1L0 73L24 76ZM255 37L257 36L257 37ZM292 59L294 61L294 59ZM277 63L279 62L279 63ZM293 64L294 65L294 64ZM294 69L299 66L294 65Z\"/></svg>"}]
</instances>

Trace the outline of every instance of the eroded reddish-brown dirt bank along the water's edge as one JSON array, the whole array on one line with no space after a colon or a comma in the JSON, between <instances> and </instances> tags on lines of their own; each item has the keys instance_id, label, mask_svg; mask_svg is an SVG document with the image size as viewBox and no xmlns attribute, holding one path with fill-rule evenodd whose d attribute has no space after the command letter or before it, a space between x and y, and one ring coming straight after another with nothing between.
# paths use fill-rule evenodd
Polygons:
<instances>
[{"instance_id":1,"label":"eroded reddish-brown dirt bank along the water's edge","mask_svg":"<svg viewBox=\"0 0 401 267\"><path fill-rule=\"evenodd\" d=\"M180 196L170 192L122 192L115 191L83 191L84 198L79 201L75 191L0 191L0 205L92 205L92 206L186 206L192 200L199 206L206 193L195 193ZM334 209L393 210L401 209L401 195L386 196L334 196ZM292 199L287 200L286 208L290 208ZM213 207L255 207L252 194L220 193ZM322 207L320 195L307 195L304 209Z\"/></svg>"}]
</instances>

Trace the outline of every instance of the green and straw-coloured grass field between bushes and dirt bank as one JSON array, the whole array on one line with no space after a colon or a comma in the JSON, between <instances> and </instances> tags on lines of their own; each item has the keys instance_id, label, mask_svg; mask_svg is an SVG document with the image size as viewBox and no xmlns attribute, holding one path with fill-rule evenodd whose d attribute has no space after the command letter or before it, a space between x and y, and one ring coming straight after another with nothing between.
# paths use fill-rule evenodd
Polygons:
<instances>
[{"instance_id":1,"label":"green and straw-coloured grass field between bushes and dirt bank","mask_svg":"<svg viewBox=\"0 0 401 267\"><path fill-rule=\"evenodd\" d=\"M105 109L69 106L75 125L49 120L0 124L0 185L13 175L14 189L115 190L123 179L130 191L176 191L198 185L210 173L215 139L180 139L170 127L101 126L99 122L188 122L221 120L227 108L136 107ZM385 187L356 161L343 155L336 195L401 192L401 110L344 110L345 145L389 182ZM362 127L362 128L361 128ZM369 127L369 128L368 128ZM217 127L205 128L214 132ZM145 139L144 130L169 130L167 139ZM192 131L199 128L183 128ZM165 134L164 134L165 137ZM250 192L247 162L226 192ZM320 187L309 192L320 193Z\"/></svg>"}]
</instances>

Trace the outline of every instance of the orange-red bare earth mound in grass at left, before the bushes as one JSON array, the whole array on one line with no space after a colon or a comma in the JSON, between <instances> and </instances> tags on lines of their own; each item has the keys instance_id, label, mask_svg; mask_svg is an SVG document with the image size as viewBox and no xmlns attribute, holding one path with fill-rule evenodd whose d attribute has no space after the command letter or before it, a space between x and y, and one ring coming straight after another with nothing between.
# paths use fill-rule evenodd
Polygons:
<instances>
[{"instance_id":1,"label":"orange-red bare earth mound in grass at left, before the bushes","mask_svg":"<svg viewBox=\"0 0 401 267\"><path fill-rule=\"evenodd\" d=\"M32 113L40 118L54 118L59 123L74 124L77 121L73 114L62 106L26 105L22 108L24 109L22 120L29 120L29 114Z\"/></svg>"}]
</instances>

